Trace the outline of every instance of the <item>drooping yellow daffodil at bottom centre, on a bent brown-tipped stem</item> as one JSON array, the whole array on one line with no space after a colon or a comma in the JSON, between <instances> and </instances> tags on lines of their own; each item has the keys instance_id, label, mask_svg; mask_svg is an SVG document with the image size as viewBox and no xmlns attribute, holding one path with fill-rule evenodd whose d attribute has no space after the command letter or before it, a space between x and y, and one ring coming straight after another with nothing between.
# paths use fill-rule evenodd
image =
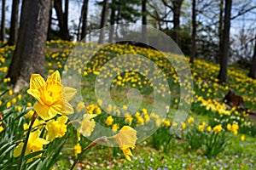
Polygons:
<instances>
[{"instance_id":1,"label":"drooping yellow daffodil at bottom centre, on a bent brown-tipped stem","mask_svg":"<svg viewBox=\"0 0 256 170\"><path fill-rule=\"evenodd\" d=\"M124 126L119 130L119 133L110 137L114 139L114 142L119 145L119 148L123 151L125 158L131 161L132 153L137 141L137 131L129 126Z\"/></svg>"}]
</instances>

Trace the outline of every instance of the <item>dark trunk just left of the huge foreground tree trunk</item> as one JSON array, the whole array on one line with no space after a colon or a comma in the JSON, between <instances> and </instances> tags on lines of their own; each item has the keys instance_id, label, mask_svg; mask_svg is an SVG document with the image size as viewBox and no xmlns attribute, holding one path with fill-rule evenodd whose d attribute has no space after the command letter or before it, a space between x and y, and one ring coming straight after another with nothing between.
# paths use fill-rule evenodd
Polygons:
<instances>
[{"instance_id":1,"label":"dark trunk just left of the huge foreground tree trunk","mask_svg":"<svg viewBox=\"0 0 256 170\"><path fill-rule=\"evenodd\" d=\"M13 0L8 45L15 45L17 42L19 5L20 5L20 0Z\"/></svg>"}]
</instances>

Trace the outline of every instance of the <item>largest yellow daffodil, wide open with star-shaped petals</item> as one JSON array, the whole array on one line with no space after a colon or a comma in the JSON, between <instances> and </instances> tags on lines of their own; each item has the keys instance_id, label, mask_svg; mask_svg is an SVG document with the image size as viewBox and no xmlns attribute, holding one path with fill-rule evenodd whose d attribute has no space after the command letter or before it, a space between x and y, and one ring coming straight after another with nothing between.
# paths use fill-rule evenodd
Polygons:
<instances>
[{"instance_id":1,"label":"largest yellow daffodil, wide open with star-shaped petals","mask_svg":"<svg viewBox=\"0 0 256 170\"><path fill-rule=\"evenodd\" d=\"M27 93L38 100L34 110L44 120L51 119L57 114L66 116L73 113L73 107L68 101L73 99L76 89L61 84L59 71L55 71L46 82L39 74L32 74Z\"/></svg>"}]
</instances>

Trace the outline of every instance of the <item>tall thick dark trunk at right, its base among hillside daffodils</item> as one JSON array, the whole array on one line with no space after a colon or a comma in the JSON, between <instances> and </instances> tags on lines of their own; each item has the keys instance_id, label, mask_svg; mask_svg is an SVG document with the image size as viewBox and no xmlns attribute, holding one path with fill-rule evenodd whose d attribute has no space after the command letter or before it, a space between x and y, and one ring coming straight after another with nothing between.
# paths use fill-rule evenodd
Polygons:
<instances>
[{"instance_id":1,"label":"tall thick dark trunk at right, its base among hillside daffodils","mask_svg":"<svg viewBox=\"0 0 256 170\"><path fill-rule=\"evenodd\" d=\"M230 52L230 13L232 0L225 0L225 14L224 14L224 31L222 42L222 55L220 59L220 70L218 73L218 80L220 83L227 82L228 79L228 59Z\"/></svg>"}]
</instances>

